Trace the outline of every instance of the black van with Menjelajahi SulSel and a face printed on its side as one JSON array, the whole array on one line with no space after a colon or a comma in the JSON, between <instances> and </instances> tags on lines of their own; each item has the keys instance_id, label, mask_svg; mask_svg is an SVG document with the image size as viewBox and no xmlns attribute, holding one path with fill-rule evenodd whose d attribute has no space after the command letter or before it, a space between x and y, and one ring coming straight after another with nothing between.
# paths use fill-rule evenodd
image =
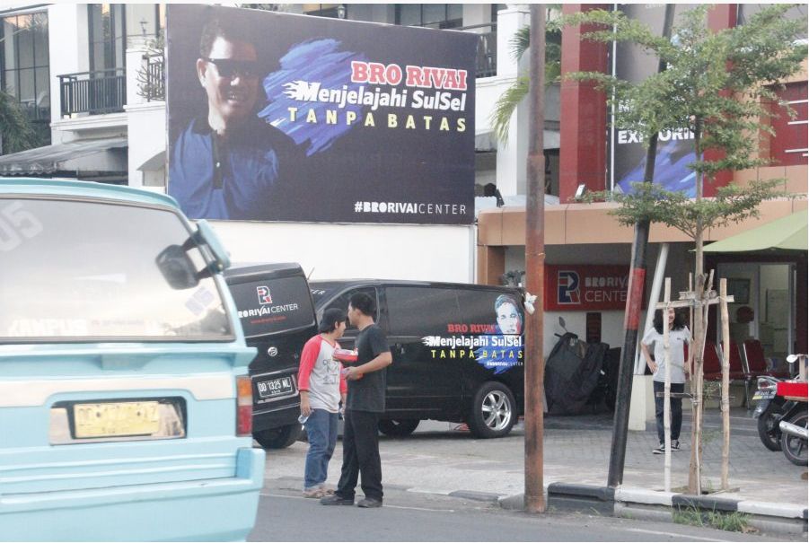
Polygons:
<instances>
[{"instance_id":1,"label":"black van with Menjelajahi SulSel and a face printed on its side","mask_svg":"<svg viewBox=\"0 0 809 543\"><path fill-rule=\"evenodd\" d=\"M376 300L374 320L393 354L383 434L412 433L421 419L463 422L501 437L523 414L523 296L498 286L350 280L310 283L318 316L347 309L357 292ZM340 346L353 348L349 326Z\"/></svg>"}]
</instances>

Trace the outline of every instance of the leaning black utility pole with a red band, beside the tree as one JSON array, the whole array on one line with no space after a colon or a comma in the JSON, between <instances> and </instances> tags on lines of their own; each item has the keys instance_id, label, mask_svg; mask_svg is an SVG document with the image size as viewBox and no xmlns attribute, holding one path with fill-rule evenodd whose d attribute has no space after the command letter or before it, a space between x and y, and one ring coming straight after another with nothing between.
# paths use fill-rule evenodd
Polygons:
<instances>
[{"instance_id":1,"label":"leaning black utility pole with a red band, beside the tree","mask_svg":"<svg viewBox=\"0 0 809 543\"><path fill-rule=\"evenodd\" d=\"M663 23L663 37L670 38L674 22L674 4L666 4ZM660 61L658 72L666 66ZM655 180L655 160L657 159L657 135L649 139L646 148L646 169L644 183ZM632 267L629 270L629 290L624 313L624 343L620 351L618 370L618 395L615 398L615 417L612 422L612 445L610 449L610 469L607 486L620 486L624 478L624 462L627 457L627 433L629 432L629 399L632 397L632 376L635 372L635 353L638 349L638 323L643 287L646 284L646 246L649 241L648 219L635 223L635 240L632 241ZM655 311L649 307L649 311Z\"/></svg>"}]
</instances>

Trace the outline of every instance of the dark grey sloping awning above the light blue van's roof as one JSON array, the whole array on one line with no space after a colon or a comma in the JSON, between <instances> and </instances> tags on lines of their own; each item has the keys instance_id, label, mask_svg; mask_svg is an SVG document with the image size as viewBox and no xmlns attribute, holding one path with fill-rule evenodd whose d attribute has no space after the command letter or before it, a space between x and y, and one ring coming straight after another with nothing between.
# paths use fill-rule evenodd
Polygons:
<instances>
[{"instance_id":1,"label":"dark grey sloping awning above the light blue van's roof","mask_svg":"<svg viewBox=\"0 0 809 543\"><path fill-rule=\"evenodd\" d=\"M0 156L0 175L37 175L55 173L57 171L73 171L74 166L66 162L87 157L95 153L103 153L110 149L125 149L126 136L107 137L102 139L82 140L67 144L45 145L20 153ZM109 168L93 168L95 171Z\"/></svg>"}]
</instances>

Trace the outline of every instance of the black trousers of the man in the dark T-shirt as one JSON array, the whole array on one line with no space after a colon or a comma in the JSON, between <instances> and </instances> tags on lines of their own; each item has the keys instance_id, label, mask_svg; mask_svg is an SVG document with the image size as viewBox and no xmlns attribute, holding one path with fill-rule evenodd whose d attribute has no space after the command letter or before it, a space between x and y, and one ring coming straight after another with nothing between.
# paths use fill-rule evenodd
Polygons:
<instances>
[{"instance_id":1,"label":"black trousers of the man in the dark T-shirt","mask_svg":"<svg viewBox=\"0 0 809 543\"><path fill-rule=\"evenodd\" d=\"M382 460L379 458L379 413L346 409L343 425L343 469L336 495L353 499L362 473L363 494L382 500Z\"/></svg>"}]
</instances>

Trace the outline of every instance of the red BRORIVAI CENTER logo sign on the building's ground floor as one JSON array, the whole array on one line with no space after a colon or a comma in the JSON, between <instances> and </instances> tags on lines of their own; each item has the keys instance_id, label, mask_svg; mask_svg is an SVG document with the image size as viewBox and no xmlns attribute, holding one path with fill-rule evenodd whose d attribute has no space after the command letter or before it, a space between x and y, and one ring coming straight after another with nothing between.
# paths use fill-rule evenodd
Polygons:
<instances>
[{"instance_id":1,"label":"red BRORIVAI CENTER logo sign on the building's ground floor","mask_svg":"<svg viewBox=\"0 0 809 543\"><path fill-rule=\"evenodd\" d=\"M623 311L627 266L546 266L546 311Z\"/></svg>"}]
</instances>

